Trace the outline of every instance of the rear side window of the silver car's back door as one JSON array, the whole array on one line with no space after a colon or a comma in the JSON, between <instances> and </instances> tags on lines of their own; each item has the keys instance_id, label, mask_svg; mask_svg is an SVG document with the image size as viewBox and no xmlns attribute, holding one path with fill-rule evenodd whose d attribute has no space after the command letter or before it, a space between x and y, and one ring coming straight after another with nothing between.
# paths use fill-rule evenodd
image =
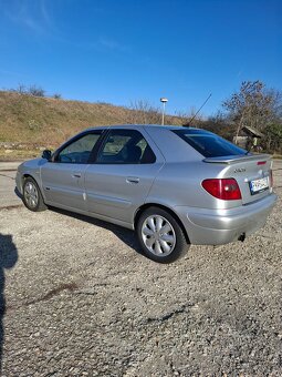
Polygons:
<instances>
[{"instance_id":1,"label":"rear side window of the silver car's back door","mask_svg":"<svg viewBox=\"0 0 282 377\"><path fill-rule=\"evenodd\" d=\"M140 132L112 130L97 156L102 164L149 164L156 156Z\"/></svg>"}]
</instances>

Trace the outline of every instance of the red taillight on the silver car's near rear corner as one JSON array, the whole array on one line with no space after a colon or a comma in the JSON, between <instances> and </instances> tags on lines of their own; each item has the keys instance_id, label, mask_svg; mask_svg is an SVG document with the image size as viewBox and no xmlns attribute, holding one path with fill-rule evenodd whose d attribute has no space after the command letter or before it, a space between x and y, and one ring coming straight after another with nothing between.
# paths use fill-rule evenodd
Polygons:
<instances>
[{"instance_id":1,"label":"red taillight on the silver car's near rear corner","mask_svg":"<svg viewBox=\"0 0 282 377\"><path fill-rule=\"evenodd\" d=\"M205 180L201 185L210 195L222 201L238 201L242 198L241 191L234 179Z\"/></svg>"}]
</instances>

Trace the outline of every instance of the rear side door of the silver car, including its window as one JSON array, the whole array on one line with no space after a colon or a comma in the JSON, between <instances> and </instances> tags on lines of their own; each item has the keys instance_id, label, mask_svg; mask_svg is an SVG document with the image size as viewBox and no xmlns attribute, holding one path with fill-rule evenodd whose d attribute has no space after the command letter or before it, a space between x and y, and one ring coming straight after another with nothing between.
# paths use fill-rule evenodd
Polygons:
<instances>
[{"instance_id":1,"label":"rear side door of the silver car, including its window","mask_svg":"<svg viewBox=\"0 0 282 377\"><path fill-rule=\"evenodd\" d=\"M142 132L108 131L96 162L85 171L87 211L132 223L163 164L163 155Z\"/></svg>"}]
</instances>

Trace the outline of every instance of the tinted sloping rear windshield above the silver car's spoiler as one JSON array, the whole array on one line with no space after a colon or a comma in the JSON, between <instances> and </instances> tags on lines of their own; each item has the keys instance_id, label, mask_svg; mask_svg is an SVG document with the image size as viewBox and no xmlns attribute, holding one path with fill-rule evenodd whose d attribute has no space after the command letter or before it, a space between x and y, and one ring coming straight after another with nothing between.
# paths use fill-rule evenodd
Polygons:
<instances>
[{"instance_id":1,"label":"tinted sloping rear windshield above the silver car's spoiler","mask_svg":"<svg viewBox=\"0 0 282 377\"><path fill-rule=\"evenodd\" d=\"M171 130L186 143L191 145L197 152L201 153L205 157L221 157L229 155L246 154L247 151L230 143L226 139L222 139L215 133L195 130Z\"/></svg>"}]
</instances>

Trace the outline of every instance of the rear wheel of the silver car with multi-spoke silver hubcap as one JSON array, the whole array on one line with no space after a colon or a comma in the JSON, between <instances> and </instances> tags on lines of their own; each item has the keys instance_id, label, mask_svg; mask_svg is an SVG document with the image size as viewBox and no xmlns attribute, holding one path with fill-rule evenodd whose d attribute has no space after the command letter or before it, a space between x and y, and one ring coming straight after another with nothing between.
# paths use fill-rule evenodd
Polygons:
<instances>
[{"instance_id":1,"label":"rear wheel of the silver car with multi-spoke silver hubcap","mask_svg":"<svg viewBox=\"0 0 282 377\"><path fill-rule=\"evenodd\" d=\"M159 207L145 210L136 233L144 254L158 263L171 263L187 253L188 245L178 221Z\"/></svg>"}]
</instances>

